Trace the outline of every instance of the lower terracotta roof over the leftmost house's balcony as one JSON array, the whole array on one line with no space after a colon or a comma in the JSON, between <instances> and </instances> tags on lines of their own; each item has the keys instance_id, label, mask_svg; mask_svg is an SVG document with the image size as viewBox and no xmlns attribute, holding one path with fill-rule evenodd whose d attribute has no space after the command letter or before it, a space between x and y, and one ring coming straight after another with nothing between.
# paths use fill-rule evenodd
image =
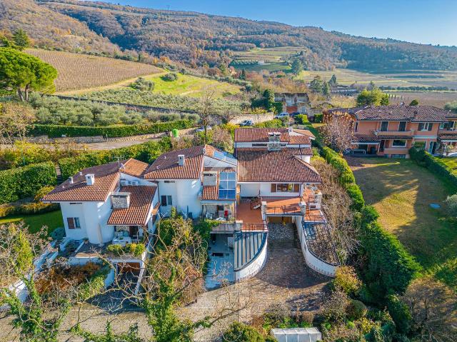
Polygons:
<instances>
[{"instance_id":1,"label":"lower terracotta roof over the leftmost house's balcony","mask_svg":"<svg viewBox=\"0 0 457 342\"><path fill-rule=\"evenodd\" d=\"M121 192L130 193L129 208L113 209L109 225L143 226L146 224L156 186L122 186Z\"/></svg>"}]
</instances>

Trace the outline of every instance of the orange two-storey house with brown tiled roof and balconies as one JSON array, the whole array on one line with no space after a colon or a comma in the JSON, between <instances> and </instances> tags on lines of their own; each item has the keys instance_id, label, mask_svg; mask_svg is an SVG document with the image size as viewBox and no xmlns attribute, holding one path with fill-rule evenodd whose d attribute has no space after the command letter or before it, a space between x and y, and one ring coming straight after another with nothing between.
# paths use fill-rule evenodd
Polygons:
<instances>
[{"instance_id":1,"label":"orange two-storey house with brown tiled roof and balconies","mask_svg":"<svg viewBox=\"0 0 457 342\"><path fill-rule=\"evenodd\" d=\"M366 106L330 109L324 121L344 116L352 121L353 148L363 155L408 158L412 146L435 154L457 144L457 114L433 106Z\"/></svg>"}]
</instances>

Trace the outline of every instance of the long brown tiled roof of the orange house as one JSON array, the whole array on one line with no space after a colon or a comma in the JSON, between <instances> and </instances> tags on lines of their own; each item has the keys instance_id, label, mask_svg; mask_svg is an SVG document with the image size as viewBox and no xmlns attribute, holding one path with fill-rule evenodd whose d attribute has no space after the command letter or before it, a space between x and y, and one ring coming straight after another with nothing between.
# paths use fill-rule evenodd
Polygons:
<instances>
[{"instance_id":1,"label":"long brown tiled roof of the orange house","mask_svg":"<svg viewBox=\"0 0 457 342\"><path fill-rule=\"evenodd\" d=\"M433 106L366 106L331 109L328 113L348 113L361 121L443 122L457 114Z\"/></svg>"}]
</instances>

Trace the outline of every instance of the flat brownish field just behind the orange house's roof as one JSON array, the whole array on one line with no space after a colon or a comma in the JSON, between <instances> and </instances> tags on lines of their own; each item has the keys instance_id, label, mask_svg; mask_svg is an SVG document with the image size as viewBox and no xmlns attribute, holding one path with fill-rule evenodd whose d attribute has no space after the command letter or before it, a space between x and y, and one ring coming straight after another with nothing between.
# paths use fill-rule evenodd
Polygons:
<instances>
[{"instance_id":1,"label":"flat brownish field just behind the orange house's roof","mask_svg":"<svg viewBox=\"0 0 457 342\"><path fill-rule=\"evenodd\" d=\"M443 108L451 101L457 101L457 91L386 91L391 104L410 104L413 99L423 106Z\"/></svg>"}]
</instances>

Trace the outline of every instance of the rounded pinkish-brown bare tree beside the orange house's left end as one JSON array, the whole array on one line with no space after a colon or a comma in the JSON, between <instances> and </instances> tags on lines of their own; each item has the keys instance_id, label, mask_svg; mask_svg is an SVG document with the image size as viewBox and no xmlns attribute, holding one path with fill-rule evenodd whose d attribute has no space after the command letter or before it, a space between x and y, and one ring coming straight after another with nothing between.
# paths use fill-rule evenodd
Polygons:
<instances>
[{"instance_id":1,"label":"rounded pinkish-brown bare tree beside the orange house's left end","mask_svg":"<svg viewBox=\"0 0 457 342\"><path fill-rule=\"evenodd\" d=\"M353 141L353 122L346 116L330 116L326 124L319 128L326 145L336 151L343 152L351 149Z\"/></svg>"}]
</instances>

